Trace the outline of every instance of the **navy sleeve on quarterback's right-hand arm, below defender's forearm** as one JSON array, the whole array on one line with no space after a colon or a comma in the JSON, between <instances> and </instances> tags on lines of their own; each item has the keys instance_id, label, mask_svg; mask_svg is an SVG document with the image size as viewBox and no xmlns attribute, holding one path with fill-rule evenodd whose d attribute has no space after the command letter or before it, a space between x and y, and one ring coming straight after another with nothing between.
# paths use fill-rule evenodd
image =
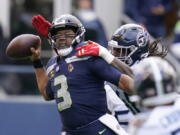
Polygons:
<instances>
[{"instance_id":1,"label":"navy sleeve on quarterback's right-hand arm, below defender's forearm","mask_svg":"<svg viewBox=\"0 0 180 135\"><path fill-rule=\"evenodd\" d=\"M121 73L118 70L116 70L103 59L98 57L94 58L94 60L92 60L91 62L92 63L90 67L93 74L95 74L97 77L104 81L111 82L118 86L119 79L121 76Z\"/></svg>"}]
</instances>

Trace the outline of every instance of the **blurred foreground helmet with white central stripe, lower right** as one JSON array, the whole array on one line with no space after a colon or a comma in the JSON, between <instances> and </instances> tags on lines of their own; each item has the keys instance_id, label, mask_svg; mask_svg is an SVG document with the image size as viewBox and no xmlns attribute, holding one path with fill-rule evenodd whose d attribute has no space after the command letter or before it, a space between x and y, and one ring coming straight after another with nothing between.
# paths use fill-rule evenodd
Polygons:
<instances>
[{"instance_id":1,"label":"blurred foreground helmet with white central stripe, lower right","mask_svg":"<svg viewBox=\"0 0 180 135\"><path fill-rule=\"evenodd\" d=\"M175 69L160 57L149 57L135 66L134 86L142 107L172 103L176 98Z\"/></svg>"}]
</instances>

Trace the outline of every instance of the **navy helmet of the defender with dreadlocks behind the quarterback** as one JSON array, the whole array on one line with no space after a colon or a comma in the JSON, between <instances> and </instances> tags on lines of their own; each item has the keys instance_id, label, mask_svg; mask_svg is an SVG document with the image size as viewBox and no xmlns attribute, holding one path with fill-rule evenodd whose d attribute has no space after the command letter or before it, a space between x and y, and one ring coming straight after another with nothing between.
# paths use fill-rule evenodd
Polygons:
<instances>
[{"instance_id":1,"label":"navy helmet of the defender with dreadlocks behind the quarterback","mask_svg":"<svg viewBox=\"0 0 180 135\"><path fill-rule=\"evenodd\" d=\"M137 24L125 24L115 31L108 45L117 58L128 65L148 56L149 33Z\"/></svg>"}]
</instances>

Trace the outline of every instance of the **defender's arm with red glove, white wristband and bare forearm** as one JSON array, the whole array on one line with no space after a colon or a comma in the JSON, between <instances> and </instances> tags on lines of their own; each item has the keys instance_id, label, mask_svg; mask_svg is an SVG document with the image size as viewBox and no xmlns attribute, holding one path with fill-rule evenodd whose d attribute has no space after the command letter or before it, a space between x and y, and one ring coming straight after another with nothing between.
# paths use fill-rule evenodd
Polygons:
<instances>
[{"instance_id":1,"label":"defender's arm with red glove, white wristband and bare forearm","mask_svg":"<svg viewBox=\"0 0 180 135\"><path fill-rule=\"evenodd\" d=\"M88 45L78 47L76 50L76 56L100 56L120 72L133 77L133 71L127 64L114 57L106 48L93 41L88 41Z\"/></svg>"}]
</instances>

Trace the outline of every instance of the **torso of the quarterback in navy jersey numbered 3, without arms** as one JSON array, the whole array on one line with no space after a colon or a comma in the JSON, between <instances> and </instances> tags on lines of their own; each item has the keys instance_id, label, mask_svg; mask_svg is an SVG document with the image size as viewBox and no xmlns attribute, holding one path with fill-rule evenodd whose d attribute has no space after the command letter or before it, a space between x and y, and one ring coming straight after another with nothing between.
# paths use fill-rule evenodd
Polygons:
<instances>
[{"instance_id":1,"label":"torso of the quarterback in navy jersey numbered 3, without arms","mask_svg":"<svg viewBox=\"0 0 180 135\"><path fill-rule=\"evenodd\" d=\"M89 61L72 56L52 70L51 88L66 128L85 125L107 111L104 81L91 72Z\"/></svg>"}]
</instances>

